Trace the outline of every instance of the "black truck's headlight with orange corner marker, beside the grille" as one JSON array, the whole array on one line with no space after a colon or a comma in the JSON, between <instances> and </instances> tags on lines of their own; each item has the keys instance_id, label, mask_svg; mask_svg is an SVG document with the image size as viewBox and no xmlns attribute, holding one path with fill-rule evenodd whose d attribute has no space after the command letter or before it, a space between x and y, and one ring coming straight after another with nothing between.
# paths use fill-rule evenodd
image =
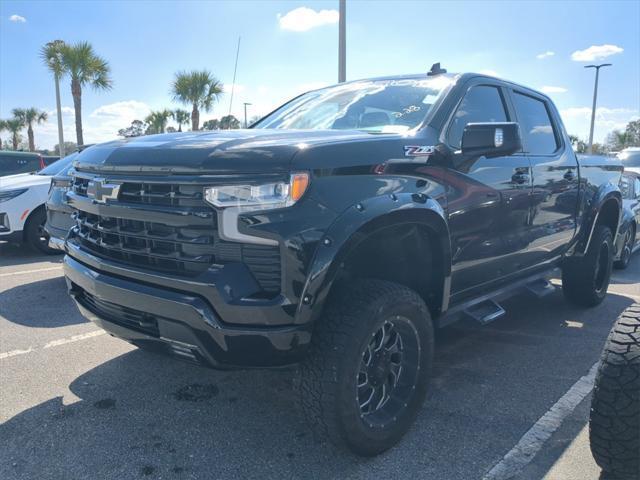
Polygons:
<instances>
[{"instance_id":1,"label":"black truck's headlight with orange corner marker, beside the grille","mask_svg":"<svg viewBox=\"0 0 640 480\"><path fill-rule=\"evenodd\" d=\"M204 191L204 198L218 208L269 210L290 207L300 200L308 186L307 173L294 173L288 182L208 187Z\"/></svg>"}]
</instances>

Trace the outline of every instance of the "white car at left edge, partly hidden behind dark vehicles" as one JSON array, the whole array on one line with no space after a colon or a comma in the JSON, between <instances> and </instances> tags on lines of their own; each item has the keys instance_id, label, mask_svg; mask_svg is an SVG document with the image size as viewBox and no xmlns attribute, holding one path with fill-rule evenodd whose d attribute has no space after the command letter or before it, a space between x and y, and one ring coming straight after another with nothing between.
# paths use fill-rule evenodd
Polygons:
<instances>
[{"instance_id":1,"label":"white car at left edge, partly hidden behind dark vehicles","mask_svg":"<svg viewBox=\"0 0 640 480\"><path fill-rule=\"evenodd\" d=\"M71 160L58 160L38 173L0 177L0 240L28 243L42 253L62 253L48 246L45 203L51 177Z\"/></svg>"}]
</instances>

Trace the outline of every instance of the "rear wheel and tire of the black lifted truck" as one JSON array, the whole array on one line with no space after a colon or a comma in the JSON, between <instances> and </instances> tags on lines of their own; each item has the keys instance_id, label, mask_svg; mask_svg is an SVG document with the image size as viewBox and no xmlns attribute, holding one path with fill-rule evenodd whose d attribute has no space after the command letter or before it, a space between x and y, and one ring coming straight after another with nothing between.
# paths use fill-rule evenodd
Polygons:
<instances>
[{"instance_id":1,"label":"rear wheel and tire of the black lifted truck","mask_svg":"<svg viewBox=\"0 0 640 480\"><path fill-rule=\"evenodd\" d=\"M599 305L607 295L612 269L613 235L609 227L596 225L587 253L567 258L562 265L565 298L582 307Z\"/></svg>"}]
</instances>

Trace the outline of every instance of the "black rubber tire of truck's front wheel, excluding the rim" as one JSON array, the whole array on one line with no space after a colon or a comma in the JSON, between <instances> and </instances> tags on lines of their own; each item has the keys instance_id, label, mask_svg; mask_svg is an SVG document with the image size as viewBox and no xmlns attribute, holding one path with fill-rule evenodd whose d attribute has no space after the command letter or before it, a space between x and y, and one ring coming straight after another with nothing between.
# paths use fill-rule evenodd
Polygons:
<instances>
[{"instance_id":1,"label":"black rubber tire of truck's front wheel, excluding the rim","mask_svg":"<svg viewBox=\"0 0 640 480\"><path fill-rule=\"evenodd\" d=\"M337 289L316 323L310 354L294 384L302 413L320 438L373 456L400 440L424 403L433 362L433 326L422 298L402 285L365 279ZM361 416L357 398L361 352L387 318L400 317L418 340L416 382L396 418L373 428Z\"/></svg>"}]
</instances>

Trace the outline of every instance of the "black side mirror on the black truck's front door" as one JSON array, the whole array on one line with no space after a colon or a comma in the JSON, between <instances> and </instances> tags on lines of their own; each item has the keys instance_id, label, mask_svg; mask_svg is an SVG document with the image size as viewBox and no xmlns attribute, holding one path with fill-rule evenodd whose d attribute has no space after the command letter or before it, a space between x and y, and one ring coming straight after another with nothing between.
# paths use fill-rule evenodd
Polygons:
<instances>
[{"instance_id":1,"label":"black side mirror on the black truck's front door","mask_svg":"<svg viewBox=\"0 0 640 480\"><path fill-rule=\"evenodd\" d=\"M469 123L462 133L462 154L503 157L522 149L517 123Z\"/></svg>"}]
</instances>

